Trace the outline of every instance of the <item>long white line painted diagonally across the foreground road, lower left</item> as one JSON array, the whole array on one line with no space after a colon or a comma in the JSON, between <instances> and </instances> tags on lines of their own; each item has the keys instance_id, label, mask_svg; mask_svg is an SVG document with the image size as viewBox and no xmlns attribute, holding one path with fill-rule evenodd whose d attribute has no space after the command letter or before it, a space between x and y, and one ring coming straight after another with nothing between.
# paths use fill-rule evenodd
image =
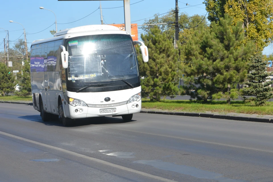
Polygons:
<instances>
[{"instance_id":1,"label":"long white line painted diagonally across the foreground road, lower left","mask_svg":"<svg viewBox=\"0 0 273 182\"><path fill-rule=\"evenodd\" d=\"M29 139L26 139L26 138L18 137L16 135L12 135L12 134L5 133L5 132L2 132L2 131L0 131L0 134L1 135L5 135L7 137L16 138L18 140L23 140L23 141L26 141L26 142L30 142L30 143L33 143L33 144L36 144L36 145L40 145L40 146L44 146L44 147L47 147L47 148L51 148L51 149L54 149L54 150L58 150L60 152L64 152L64 153L67 153L67 154L71 154L73 156L77 156L77 157L80 157L80 158L88 159L90 161L98 162L98 163L101 163L101 164L104 164L104 165L107 165L107 166L111 166L111 167L115 167L115 168L122 169L122 170L125 170L125 171L129 171L129 172L132 172L132 173L136 173L136 174L139 174L139 175L142 175L142 176L146 176L146 177L150 177L150 178L154 178L154 179L158 179L158 180L166 181L166 182L177 182L177 181L174 181L174 180L171 180L171 179L167 179L167 178L164 178L164 177L160 177L160 176L152 175L152 174L145 173L145 172L142 172L142 171L138 171L136 169L131 169L129 167L124 167L124 166L113 164L111 162L107 162L107 161L104 161L104 160L100 160L100 159L96 159L96 158L93 158L93 157L89 157L89 156L85 156L85 155L82 155L82 154L78 154L76 152L65 150L65 149L62 149L62 148L59 148L59 147L55 147L55 146L47 145L47 144L44 144L44 143L41 143L41 142L36 142L34 140L29 140Z\"/></svg>"}]
</instances>

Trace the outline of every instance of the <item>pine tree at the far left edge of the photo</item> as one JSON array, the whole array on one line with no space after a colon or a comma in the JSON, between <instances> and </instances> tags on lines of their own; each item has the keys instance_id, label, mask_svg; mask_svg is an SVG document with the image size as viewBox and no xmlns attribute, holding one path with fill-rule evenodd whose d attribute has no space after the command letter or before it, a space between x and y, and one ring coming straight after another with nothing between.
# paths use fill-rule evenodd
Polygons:
<instances>
[{"instance_id":1,"label":"pine tree at the far left edge of the photo","mask_svg":"<svg viewBox=\"0 0 273 182\"><path fill-rule=\"evenodd\" d=\"M14 80L11 69L7 68L4 63L0 63L0 94L5 96L14 91Z\"/></svg>"}]
</instances>

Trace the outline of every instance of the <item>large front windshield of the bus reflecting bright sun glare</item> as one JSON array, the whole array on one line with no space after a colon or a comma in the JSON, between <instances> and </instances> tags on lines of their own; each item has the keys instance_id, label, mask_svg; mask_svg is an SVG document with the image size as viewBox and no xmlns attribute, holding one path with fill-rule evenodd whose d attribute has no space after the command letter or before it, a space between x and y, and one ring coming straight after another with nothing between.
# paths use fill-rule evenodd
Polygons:
<instances>
[{"instance_id":1,"label":"large front windshield of the bus reflecting bright sun glare","mask_svg":"<svg viewBox=\"0 0 273 182\"><path fill-rule=\"evenodd\" d=\"M129 35L102 34L70 38L68 80L100 82L138 77L138 64Z\"/></svg>"}]
</instances>

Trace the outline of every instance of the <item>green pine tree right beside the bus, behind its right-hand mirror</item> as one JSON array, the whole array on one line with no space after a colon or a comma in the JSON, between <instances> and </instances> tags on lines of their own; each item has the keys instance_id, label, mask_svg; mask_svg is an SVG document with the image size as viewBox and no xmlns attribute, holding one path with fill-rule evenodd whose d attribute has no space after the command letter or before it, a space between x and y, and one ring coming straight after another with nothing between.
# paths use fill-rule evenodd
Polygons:
<instances>
[{"instance_id":1,"label":"green pine tree right beside the bus, behind its right-hand mirror","mask_svg":"<svg viewBox=\"0 0 273 182\"><path fill-rule=\"evenodd\" d=\"M177 94L178 50L174 49L172 41L157 26L151 28L148 34L142 34L141 38L149 51L148 63L143 63L138 54L140 76L144 77L141 80L142 95L159 101L162 96Z\"/></svg>"}]
</instances>

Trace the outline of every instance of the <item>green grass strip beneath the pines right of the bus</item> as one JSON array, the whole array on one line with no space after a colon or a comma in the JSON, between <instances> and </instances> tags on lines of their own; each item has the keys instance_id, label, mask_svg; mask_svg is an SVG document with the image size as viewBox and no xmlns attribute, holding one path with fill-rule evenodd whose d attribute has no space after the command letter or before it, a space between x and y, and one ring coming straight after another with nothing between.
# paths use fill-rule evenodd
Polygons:
<instances>
[{"instance_id":1,"label":"green grass strip beneath the pines right of the bus","mask_svg":"<svg viewBox=\"0 0 273 182\"><path fill-rule=\"evenodd\" d=\"M207 111L259 115L272 115L273 113L272 102L267 102L265 106L255 106L253 103L245 103L243 101L231 101L231 104L229 105L226 104L226 101L200 102L190 100L162 100L160 102L156 102L143 99L142 108L199 113Z\"/></svg>"}]
</instances>

